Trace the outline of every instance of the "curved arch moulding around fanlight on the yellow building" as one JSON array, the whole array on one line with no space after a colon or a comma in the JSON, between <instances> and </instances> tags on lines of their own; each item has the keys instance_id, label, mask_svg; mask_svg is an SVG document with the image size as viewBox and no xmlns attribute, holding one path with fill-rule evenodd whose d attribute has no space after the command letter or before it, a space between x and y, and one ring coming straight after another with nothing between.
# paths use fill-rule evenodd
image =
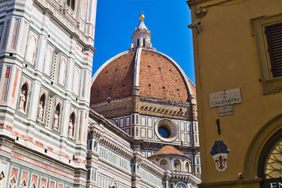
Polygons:
<instances>
[{"instance_id":1,"label":"curved arch moulding around fanlight on the yellow building","mask_svg":"<svg viewBox=\"0 0 282 188\"><path fill-rule=\"evenodd\" d=\"M271 146L281 138L282 135L282 113L276 115L267 122L255 135L245 156L244 176L246 178L263 177L262 164L266 153Z\"/></svg>"}]
</instances>

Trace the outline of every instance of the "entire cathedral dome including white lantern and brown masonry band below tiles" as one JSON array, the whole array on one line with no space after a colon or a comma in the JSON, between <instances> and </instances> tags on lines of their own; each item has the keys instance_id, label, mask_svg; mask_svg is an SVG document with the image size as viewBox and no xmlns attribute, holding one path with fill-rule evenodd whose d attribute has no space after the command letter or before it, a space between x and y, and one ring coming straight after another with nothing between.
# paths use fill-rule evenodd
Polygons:
<instances>
[{"instance_id":1,"label":"entire cathedral dome including white lantern and brown masonry band below tiles","mask_svg":"<svg viewBox=\"0 0 282 188\"><path fill-rule=\"evenodd\" d=\"M176 61L152 47L143 19L133 32L130 49L110 58L92 77L90 108L105 118L140 111L188 118L190 104L195 104L195 86Z\"/></svg>"}]
</instances>

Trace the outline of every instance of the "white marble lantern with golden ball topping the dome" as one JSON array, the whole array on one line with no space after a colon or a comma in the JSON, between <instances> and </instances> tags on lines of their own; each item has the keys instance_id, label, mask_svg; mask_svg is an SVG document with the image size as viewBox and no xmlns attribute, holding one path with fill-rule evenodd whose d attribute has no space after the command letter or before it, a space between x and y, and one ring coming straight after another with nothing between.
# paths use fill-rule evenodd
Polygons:
<instances>
[{"instance_id":1,"label":"white marble lantern with golden ball topping the dome","mask_svg":"<svg viewBox=\"0 0 282 188\"><path fill-rule=\"evenodd\" d=\"M140 18L140 23L138 27L135 28L135 31L133 32L133 35L131 37L133 39L133 44L130 44L130 50L138 49L138 48L156 50L155 48L152 47L152 43L151 43L152 35L143 21L145 18L143 12L140 13L139 18Z\"/></svg>"}]
</instances>

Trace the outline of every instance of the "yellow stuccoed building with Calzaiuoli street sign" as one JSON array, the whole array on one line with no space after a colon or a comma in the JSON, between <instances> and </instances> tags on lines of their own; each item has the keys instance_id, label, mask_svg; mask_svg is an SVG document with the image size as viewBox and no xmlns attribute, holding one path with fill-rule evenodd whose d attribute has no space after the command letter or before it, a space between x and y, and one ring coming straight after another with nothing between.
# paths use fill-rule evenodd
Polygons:
<instances>
[{"instance_id":1,"label":"yellow stuccoed building with Calzaiuoli street sign","mask_svg":"<svg viewBox=\"0 0 282 188\"><path fill-rule=\"evenodd\" d=\"M202 183L282 187L282 1L190 0Z\"/></svg>"}]
</instances>

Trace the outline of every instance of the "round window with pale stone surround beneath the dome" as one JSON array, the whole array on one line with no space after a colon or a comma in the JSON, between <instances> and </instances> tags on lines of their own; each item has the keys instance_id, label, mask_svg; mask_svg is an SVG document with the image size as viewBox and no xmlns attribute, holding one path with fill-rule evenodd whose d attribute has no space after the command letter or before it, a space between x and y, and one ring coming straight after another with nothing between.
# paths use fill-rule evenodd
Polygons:
<instances>
[{"instance_id":1,"label":"round window with pale stone surround beneath the dome","mask_svg":"<svg viewBox=\"0 0 282 188\"><path fill-rule=\"evenodd\" d=\"M178 137L178 127L176 123L168 119L158 120L154 131L157 137L164 142L172 142Z\"/></svg>"}]
</instances>

